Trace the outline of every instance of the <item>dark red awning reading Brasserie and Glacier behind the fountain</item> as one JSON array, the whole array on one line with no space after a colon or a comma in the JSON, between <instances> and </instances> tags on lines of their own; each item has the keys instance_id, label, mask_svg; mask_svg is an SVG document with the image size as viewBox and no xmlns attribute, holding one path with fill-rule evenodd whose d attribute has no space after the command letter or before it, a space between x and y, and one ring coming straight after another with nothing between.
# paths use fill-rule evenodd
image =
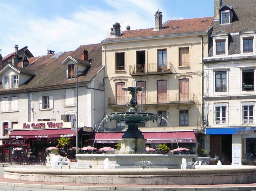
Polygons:
<instances>
[{"instance_id":1,"label":"dark red awning reading Brasserie and Glacier behind the fountain","mask_svg":"<svg viewBox=\"0 0 256 191\"><path fill-rule=\"evenodd\" d=\"M88 142L92 143L117 143L122 139L124 132L92 133ZM194 132L143 132L147 143L195 143ZM96 137L96 138L95 138Z\"/></svg>"}]
</instances>

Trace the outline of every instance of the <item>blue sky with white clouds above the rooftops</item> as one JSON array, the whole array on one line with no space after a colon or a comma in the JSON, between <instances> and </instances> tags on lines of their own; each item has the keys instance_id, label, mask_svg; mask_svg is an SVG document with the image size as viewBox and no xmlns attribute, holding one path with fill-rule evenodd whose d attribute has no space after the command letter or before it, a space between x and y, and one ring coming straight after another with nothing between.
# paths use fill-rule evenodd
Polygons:
<instances>
[{"instance_id":1,"label":"blue sky with white clouds above the rooftops","mask_svg":"<svg viewBox=\"0 0 256 191\"><path fill-rule=\"evenodd\" d=\"M0 8L2 56L15 44L41 56L100 43L115 22L121 30L154 28L158 9L163 22L213 16L214 0L0 0Z\"/></svg>"}]
</instances>

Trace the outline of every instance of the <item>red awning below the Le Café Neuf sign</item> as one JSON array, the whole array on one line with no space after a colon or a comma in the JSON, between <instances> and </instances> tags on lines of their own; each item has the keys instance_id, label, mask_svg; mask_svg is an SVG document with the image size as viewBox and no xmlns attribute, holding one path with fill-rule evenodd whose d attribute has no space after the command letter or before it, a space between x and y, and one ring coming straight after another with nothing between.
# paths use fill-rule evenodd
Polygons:
<instances>
[{"instance_id":1,"label":"red awning below the Le Caf\u00e9 Neuf sign","mask_svg":"<svg viewBox=\"0 0 256 191\"><path fill-rule=\"evenodd\" d=\"M13 130L9 134L9 138L59 138L59 137L75 137L75 136L76 136L76 132L72 131L71 128Z\"/></svg>"}]
</instances>

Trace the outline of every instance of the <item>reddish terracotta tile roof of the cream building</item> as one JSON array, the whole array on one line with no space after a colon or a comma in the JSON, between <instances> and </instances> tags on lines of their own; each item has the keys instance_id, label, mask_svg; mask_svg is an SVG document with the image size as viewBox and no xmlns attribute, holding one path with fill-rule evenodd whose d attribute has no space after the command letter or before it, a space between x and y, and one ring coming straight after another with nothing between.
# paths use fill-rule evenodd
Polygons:
<instances>
[{"instance_id":1,"label":"reddish terracotta tile roof of the cream building","mask_svg":"<svg viewBox=\"0 0 256 191\"><path fill-rule=\"evenodd\" d=\"M171 20L164 23L163 28L159 31L154 31L153 28L140 29L140 30L126 30L121 32L119 37L107 38L104 41L206 32L209 29L212 21L213 21L213 17ZM173 28L173 27L178 27L178 28Z\"/></svg>"}]
</instances>

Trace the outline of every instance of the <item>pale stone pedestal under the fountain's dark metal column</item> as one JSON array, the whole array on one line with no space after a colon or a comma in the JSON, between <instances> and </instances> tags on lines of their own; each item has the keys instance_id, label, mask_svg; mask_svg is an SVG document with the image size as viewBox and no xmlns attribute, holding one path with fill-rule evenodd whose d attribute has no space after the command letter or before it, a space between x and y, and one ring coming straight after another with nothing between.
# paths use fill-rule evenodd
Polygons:
<instances>
[{"instance_id":1,"label":"pale stone pedestal under the fountain's dark metal column","mask_svg":"<svg viewBox=\"0 0 256 191\"><path fill-rule=\"evenodd\" d=\"M119 154L147 154L146 141L142 138L122 138Z\"/></svg>"}]
</instances>

